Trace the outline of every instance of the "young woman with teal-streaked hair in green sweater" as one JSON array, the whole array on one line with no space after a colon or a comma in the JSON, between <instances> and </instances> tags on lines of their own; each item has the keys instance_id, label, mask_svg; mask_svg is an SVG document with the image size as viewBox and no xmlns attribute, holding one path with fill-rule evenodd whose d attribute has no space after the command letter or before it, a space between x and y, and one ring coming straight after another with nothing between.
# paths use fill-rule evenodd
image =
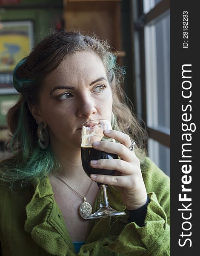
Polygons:
<instances>
[{"instance_id":1,"label":"young woman with teal-streaked hair in green sweater","mask_svg":"<svg viewBox=\"0 0 200 256\"><path fill-rule=\"evenodd\" d=\"M54 32L14 69L20 99L8 113L14 156L0 163L0 243L3 256L169 255L169 177L145 154L145 133L120 88L123 69L110 46L80 32ZM110 120L93 147L119 156L83 171L81 125ZM136 147L133 149L134 142ZM119 217L86 220L86 197L98 209L97 183L108 185Z\"/></svg>"}]
</instances>

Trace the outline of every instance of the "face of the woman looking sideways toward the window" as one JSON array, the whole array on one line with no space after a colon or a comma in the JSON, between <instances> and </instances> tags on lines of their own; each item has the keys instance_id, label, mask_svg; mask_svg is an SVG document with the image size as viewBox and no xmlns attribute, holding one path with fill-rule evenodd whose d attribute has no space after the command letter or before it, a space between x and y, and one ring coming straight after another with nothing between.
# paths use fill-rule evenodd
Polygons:
<instances>
[{"instance_id":1,"label":"face of the woman looking sideways toward the window","mask_svg":"<svg viewBox=\"0 0 200 256\"><path fill-rule=\"evenodd\" d=\"M111 87L100 57L87 51L67 57L46 77L38 109L53 145L80 148L83 122L111 121Z\"/></svg>"}]
</instances>

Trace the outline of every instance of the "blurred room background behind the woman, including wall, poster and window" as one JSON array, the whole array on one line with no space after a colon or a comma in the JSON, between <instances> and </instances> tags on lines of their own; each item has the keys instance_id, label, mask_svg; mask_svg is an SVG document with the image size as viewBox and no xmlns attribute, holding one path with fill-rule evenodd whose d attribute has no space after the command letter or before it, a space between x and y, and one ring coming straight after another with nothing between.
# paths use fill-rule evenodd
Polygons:
<instances>
[{"instance_id":1,"label":"blurred room background behind the woman, including wall, poster and window","mask_svg":"<svg viewBox=\"0 0 200 256\"><path fill-rule=\"evenodd\" d=\"M19 97L14 66L51 29L63 28L109 41L148 131L149 157L170 176L170 0L0 0L0 159L10 155L6 113Z\"/></svg>"}]
</instances>

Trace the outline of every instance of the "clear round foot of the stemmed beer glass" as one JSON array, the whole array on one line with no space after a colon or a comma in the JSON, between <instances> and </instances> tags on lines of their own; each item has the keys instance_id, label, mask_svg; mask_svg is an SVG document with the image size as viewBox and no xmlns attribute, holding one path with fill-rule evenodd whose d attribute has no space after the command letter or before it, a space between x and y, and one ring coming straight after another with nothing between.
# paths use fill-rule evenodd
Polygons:
<instances>
[{"instance_id":1,"label":"clear round foot of the stemmed beer glass","mask_svg":"<svg viewBox=\"0 0 200 256\"><path fill-rule=\"evenodd\" d=\"M117 212L116 210L112 209L110 206L100 207L97 212L94 212L91 215L86 216L86 219L94 219L94 218L106 218L111 216L120 216L126 215L125 212Z\"/></svg>"}]
</instances>

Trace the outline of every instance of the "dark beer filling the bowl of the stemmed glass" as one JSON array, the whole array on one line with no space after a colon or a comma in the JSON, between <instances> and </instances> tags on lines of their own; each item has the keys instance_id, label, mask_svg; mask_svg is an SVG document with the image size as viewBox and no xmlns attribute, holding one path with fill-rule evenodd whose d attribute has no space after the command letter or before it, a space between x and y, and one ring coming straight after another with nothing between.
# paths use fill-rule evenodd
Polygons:
<instances>
[{"instance_id":1,"label":"dark beer filling the bowl of the stemmed glass","mask_svg":"<svg viewBox=\"0 0 200 256\"><path fill-rule=\"evenodd\" d=\"M97 169L90 166L91 160L99 159L117 159L117 154L111 154L104 151L94 149L90 146L81 147L82 166L86 174L90 177L91 174L114 175L116 170Z\"/></svg>"}]
</instances>

